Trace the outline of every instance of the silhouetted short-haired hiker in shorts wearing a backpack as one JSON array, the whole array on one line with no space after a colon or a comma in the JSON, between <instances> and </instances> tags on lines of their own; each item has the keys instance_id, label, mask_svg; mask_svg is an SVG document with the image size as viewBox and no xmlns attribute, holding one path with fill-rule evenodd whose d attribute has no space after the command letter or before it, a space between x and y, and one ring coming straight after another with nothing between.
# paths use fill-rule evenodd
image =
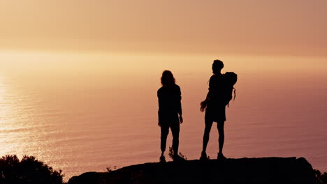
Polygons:
<instances>
[{"instance_id":1,"label":"silhouetted short-haired hiker in shorts wearing a backpack","mask_svg":"<svg viewBox=\"0 0 327 184\"><path fill-rule=\"evenodd\" d=\"M219 153L217 159L225 159L222 153L224 147L224 123L226 121L226 105L232 99L233 85L237 81L237 75L234 72L226 72L221 74L224 63L215 60L212 64L213 75L209 81L209 92L203 102L201 102L201 112L205 111L205 130L203 135L203 149L200 160L207 160L207 149L210 130L213 122L217 122L219 132Z\"/></svg>"}]
</instances>

